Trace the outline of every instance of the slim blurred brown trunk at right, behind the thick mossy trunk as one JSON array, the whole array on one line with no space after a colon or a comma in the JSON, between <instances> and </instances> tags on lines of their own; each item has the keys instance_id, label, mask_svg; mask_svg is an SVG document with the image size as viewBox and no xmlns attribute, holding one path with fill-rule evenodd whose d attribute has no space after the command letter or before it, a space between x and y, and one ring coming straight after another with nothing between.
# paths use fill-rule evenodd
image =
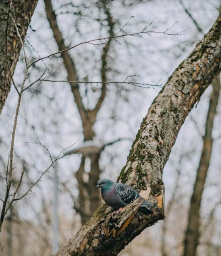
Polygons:
<instances>
[{"instance_id":1,"label":"slim blurred brown trunk at right, behind the thick mossy trunk","mask_svg":"<svg viewBox=\"0 0 221 256\"><path fill-rule=\"evenodd\" d=\"M195 256L199 240L199 227L200 227L200 203L204 184L207 177L211 153L212 153L212 128L213 121L218 105L220 81L219 76L216 77L212 83L213 92L210 99L209 109L207 113L206 129L204 135L204 145L200 157L200 163L196 173L196 180L193 188L193 193L190 201L189 218L184 241L184 256Z\"/></svg>"}]
</instances>

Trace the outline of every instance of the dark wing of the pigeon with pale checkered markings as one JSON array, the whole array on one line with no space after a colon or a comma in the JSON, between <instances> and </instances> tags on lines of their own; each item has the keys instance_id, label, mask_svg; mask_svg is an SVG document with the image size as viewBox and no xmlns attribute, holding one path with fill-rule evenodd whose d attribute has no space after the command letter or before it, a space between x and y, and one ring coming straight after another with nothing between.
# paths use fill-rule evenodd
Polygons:
<instances>
[{"instance_id":1,"label":"dark wing of the pigeon with pale checkered markings","mask_svg":"<svg viewBox=\"0 0 221 256\"><path fill-rule=\"evenodd\" d=\"M116 192L120 196L121 200L126 204L132 203L140 197L137 191L121 183L116 185Z\"/></svg>"}]
</instances>

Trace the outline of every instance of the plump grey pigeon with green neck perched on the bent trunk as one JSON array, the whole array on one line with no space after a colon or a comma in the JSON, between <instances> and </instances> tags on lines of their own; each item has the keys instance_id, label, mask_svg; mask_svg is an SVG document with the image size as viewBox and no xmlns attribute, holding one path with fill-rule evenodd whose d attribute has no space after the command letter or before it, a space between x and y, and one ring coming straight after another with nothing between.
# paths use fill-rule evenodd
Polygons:
<instances>
[{"instance_id":1,"label":"plump grey pigeon with green neck perched on the bent trunk","mask_svg":"<svg viewBox=\"0 0 221 256\"><path fill-rule=\"evenodd\" d=\"M101 188L101 196L104 202L117 210L115 213L140 197L139 193L133 188L123 183L115 183L111 179L99 179L97 187ZM145 215L153 214L153 211L150 210L152 207L153 204L144 199L139 211Z\"/></svg>"}]
</instances>

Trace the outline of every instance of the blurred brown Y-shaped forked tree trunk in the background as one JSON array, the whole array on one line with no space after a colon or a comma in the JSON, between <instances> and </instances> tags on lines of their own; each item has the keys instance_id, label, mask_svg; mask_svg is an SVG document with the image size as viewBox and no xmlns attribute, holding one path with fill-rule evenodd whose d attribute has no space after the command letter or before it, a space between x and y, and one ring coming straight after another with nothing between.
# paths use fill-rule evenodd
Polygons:
<instances>
[{"instance_id":1,"label":"blurred brown Y-shaped forked tree trunk in the background","mask_svg":"<svg viewBox=\"0 0 221 256\"><path fill-rule=\"evenodd\" d=\"M58 49L65 50L68 47L64 43L64 38L62 36L59 25L57 23L56 14L53 10L52 2L51 2L51 0L44 0L44 2L45 2L45 10L46 10L48 22L52 29L55 41L58 45ZM109 36L111 37L114 35L114 22L111 18L110 11L106 6L106 2L101 0L101 4L102 4L101 5L102 8L104 9L104 13L107 15L107 22L109 25ZM102 78L102 81L106 81L107 58L108 58L108 51L110 48L110 44L111 44L111 40L109 40L107 42L107 44L104 46L103 51L102 51L102 56L101 56L101 63L102 63L101 78ZM78 80L77 70L76 70L76 66L75 66L75 62L74 62L73 58L70 56L68 51L62 52L61 57L63 59L64 66L65 66L65 69L68 74L68 80L69 81L77 81ZM95 133L93 130L93 125L95 123L98 111L101 108L103 101L105 99L105 96L106 96L106 91L107 91L106 83L102 84L101 95L100 95L94 109L86 109L85 108L85 106L83 104L82 97L80 95L78 83L70 82L70 86L71 86L71 90L72 90L72 93L73 93L73 96L75 99L75 103L77 105L77 108L78 108L78 111L80 114L80 118L82 121L84 141L93 140L93 138L95 136ZM82 174L81 176L76 175L81 194L87 193L88 197L90 199L91 214L85 215L83 213L83 211L79 211L79 213L81 215L81 219L82 219L82 224L85 224L87 222L87 220L91 217L91 215L95 212L95 210L101 205L100 191L94 189L94 186L95 186L97 180L99 179L99 175L100 175L99 156L97 153L95 153L95 155L90 155L88 157L91 159L91 171L89 173L88 184L84 184L84 187L87 187L86 190L84 190L84 188L81 187L82 186L82 175L83 175L84 169L82 170L83 172L81 173ZM82 191L82 189L84 191ZM85 200L85 198L83 196L80 196L79 201L81 199L84 199L84 200L82 202L79 202L79 204L83 206L83 203L87 203L87 200ZM83 209L85 209L85 206L83 207Z\"/></svg>"}]
</instances>

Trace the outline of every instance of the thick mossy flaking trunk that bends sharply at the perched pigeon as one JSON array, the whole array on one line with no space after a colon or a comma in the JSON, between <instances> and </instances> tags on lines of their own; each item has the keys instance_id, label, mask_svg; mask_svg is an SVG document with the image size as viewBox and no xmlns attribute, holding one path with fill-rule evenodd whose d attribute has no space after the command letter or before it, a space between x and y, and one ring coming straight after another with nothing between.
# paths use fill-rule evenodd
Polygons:
<instances>
[{"instance_id":1,"label":"thick mossy flaking trunk that bends sharply at the perched pigeon","mask_svg":"<svg viewBox=\"0 0 221 256\"><path fill-rule=\"evenodd\" d=\"M145 216L138 212L121 226L121 215L111 218L111 208L103 205L56 256L117 255L142 230L164 218L164 165L189 111L220 72L220 61L221 15L174 71L143 119L118 180L141 191L145 199L153 202L157 207L154 214ZM124 230L118 232L122 227Z\"/></svg>"}]
</instances>

